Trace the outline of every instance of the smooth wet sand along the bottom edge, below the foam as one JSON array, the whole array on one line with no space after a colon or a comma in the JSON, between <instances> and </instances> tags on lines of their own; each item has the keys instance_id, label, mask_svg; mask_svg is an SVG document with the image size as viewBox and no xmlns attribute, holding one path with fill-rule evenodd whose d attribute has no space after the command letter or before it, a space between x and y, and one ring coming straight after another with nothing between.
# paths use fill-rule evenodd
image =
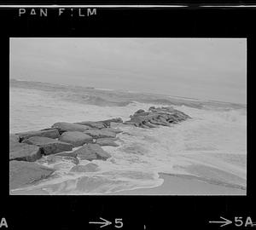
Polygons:
<instances>
[{"instance_id":1,"label":"smooth wet sand along the bottom edge, below the foam","mask_svg":"<svg viewBox=\"0 0 256 230\"><path fill-rule=\"evenodd\" d=\"M194 175L170 175L160 173L164 182L159 187L144 187L113 193L67 193L65 196L246 196L247 190L209 183ZM51 195L42 188L10 191L10 195Z\"/></svg>"}]
</instances>

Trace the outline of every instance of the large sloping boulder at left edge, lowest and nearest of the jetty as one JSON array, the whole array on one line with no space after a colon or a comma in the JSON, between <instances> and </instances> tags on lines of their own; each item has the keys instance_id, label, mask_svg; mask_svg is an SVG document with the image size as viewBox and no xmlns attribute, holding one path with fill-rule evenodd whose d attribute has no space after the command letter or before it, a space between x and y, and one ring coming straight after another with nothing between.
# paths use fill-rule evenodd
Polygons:
<instances>
[{"instance_id":1,"label":"large sloping boulder at left edge, lowest and nearest of the jetty","mask_svg":"<svg viewBox=\"0 0 256 230\"><path fill-rule=\"evenodd\" d=\"M10 161L9 189L30 186L37 181L48 178L54 171L32 162Z\"/></svg>"}]
</instances>

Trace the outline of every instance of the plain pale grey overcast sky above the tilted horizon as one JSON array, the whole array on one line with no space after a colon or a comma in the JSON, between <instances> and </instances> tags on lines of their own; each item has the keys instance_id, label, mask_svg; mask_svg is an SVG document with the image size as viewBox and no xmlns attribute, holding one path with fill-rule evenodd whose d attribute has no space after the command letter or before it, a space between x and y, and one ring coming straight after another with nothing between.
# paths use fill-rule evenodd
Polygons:
<instances>
[{"instance_id":1,"label":"plain pale grey overcast sky above the tilted horizon","mask_svg":"<svg viewBox=\"0 0 256 230\"><path fill-rule=\"evenodd\" d=\"M11 38L10 78L247 103L246 38Z\"/></svg>"}]
</instances>

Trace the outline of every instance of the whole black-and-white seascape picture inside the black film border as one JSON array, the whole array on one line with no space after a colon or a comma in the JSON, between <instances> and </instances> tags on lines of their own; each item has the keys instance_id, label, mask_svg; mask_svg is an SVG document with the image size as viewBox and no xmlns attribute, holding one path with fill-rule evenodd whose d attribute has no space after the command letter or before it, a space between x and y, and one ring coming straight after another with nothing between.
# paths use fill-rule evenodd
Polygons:
<instances>
[{"instance_id":1,"label":"whole black-and-white seascape picture inside the black film border","mask_svg":"<svg viewBox=\"0 0 256 230\"><path fill-rule=\"evenodd\" d=\"M10 37L10 195L247 194L247 38Z\"/></svg>"}]
</instances>

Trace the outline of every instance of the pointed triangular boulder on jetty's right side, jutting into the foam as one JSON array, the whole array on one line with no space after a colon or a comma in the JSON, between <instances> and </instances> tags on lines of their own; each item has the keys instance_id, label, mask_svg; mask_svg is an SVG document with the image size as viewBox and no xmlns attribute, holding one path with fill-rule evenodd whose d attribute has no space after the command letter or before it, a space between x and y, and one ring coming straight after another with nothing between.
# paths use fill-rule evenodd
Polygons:
<instances>
[{"instance_id":1,"label":"pointed triangular boulder on jetty's right side, jutting into the foam","mask_svg":"<svg viewBox=\"0 0 256 230\"><path fill-rule=\"evenodd\" d=\"M104 151L102 147L100 147L97 144L84 145L84 147L81 147L74 152L78 154L79 158L86 159L86 160L94 160L94 159L106 160L108 158L111 158L111 155L108 152Z\"/></svg>"}]
</instances>

